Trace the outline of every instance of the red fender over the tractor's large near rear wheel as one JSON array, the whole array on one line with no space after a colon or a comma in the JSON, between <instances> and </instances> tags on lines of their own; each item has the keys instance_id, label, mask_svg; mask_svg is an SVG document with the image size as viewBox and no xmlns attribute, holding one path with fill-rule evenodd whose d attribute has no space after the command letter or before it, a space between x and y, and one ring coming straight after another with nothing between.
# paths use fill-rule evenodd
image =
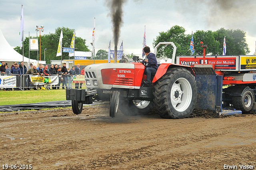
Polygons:
<instances>
[{"instance_id":1,"label":"red fender over the tractor's large near rear wheel","mask_svg":"<svg viewBox=\"0 0 256 170\"><path fill-rule=\"evenodd\" d=\"M192 75L196 76L196 74L194 73L193 69L190 66L185 66L185 65L180 65L180 64L172 64L172 63L162 63L156 70L156 74L154 76L154 79L152 80L152 83L156 82L158 79L160 79L162 76L164 76L164 74L166 73L166 71L168 69L174 68L174 67L186 68L187 70L189 70L191 72Z\"/></svg>"}]
</instances>

